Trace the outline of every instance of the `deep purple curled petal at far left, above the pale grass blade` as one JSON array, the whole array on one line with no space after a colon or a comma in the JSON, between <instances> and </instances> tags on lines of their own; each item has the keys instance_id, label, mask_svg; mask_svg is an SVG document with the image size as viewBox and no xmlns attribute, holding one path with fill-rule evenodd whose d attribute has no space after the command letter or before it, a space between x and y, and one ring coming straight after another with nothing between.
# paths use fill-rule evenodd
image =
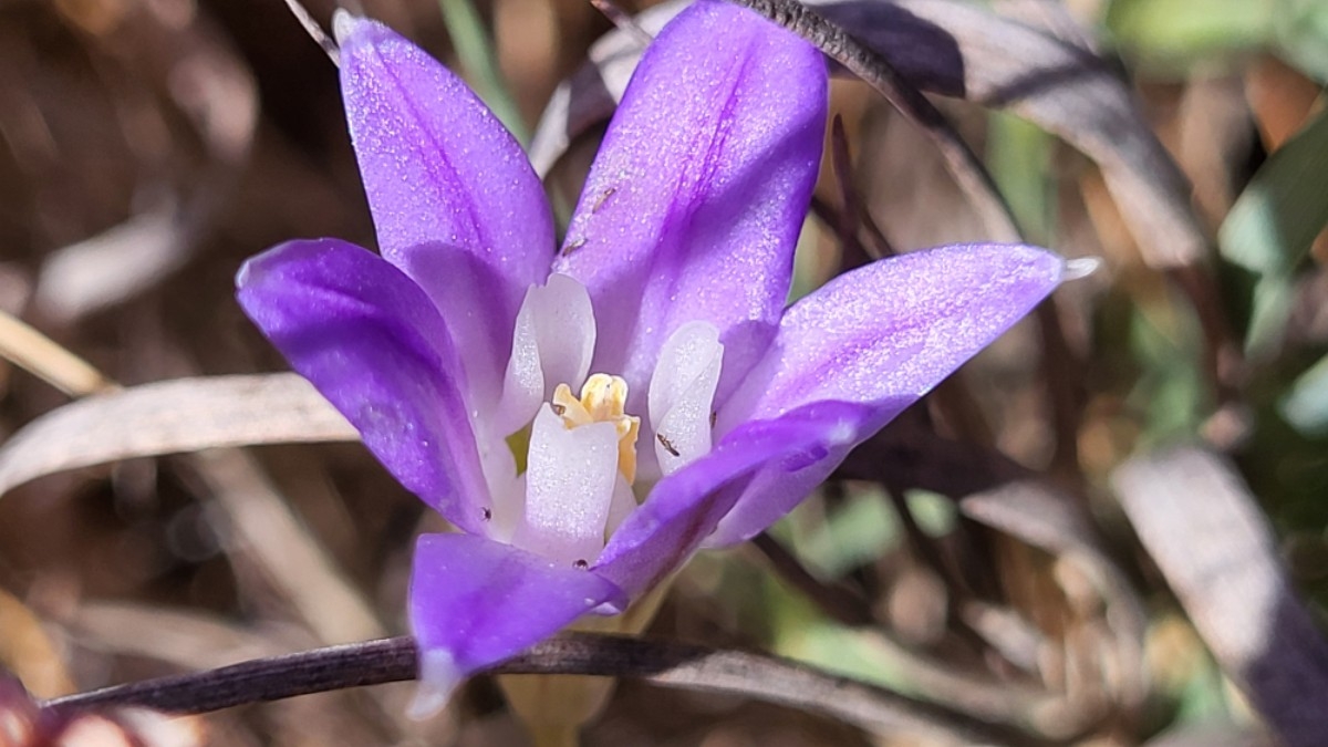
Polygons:
<instances>
[{"instance_id":1,"label":"deep purple curled petal at far left, above the pale grass blade","mask_svg":"<svg viewBox=\"0 0 1328 747\"><path fill-rule=\"evenodd\" d=\"M489 497L437 310L400 270L336 239L290 242L250 259L238 298L410 492L458 526L483 528Z\"/></svg>"}]
</instances>

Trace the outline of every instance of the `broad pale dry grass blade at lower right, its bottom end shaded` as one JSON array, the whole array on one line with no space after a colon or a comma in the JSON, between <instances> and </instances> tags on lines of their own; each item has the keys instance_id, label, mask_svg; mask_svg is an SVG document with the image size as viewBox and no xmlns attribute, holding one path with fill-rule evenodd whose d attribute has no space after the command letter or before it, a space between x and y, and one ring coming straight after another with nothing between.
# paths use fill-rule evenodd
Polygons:
<instances>
[{"instance_id":1,"label":"broad pale dry grass blade at lower right, its bottom end shaded","mask_svg":"<svg viewBox=\"0 0 1328 747\"><path fill-rule=\"evenodd\" d=\"M1292 593L1235 468L1186 447L1113 475L1130 522L1223 670L1291 747L1328 734L1328 642Z\"/></svg>"}]
</instances>

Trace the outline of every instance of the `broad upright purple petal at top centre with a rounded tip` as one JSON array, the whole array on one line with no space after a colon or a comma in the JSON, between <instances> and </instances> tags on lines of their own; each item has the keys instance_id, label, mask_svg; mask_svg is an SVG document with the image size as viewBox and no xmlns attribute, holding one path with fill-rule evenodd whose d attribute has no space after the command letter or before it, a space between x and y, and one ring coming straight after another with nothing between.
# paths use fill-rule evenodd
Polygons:
<instances>
[{"instance_id":1,"label":"broad upright purple petal at top centre with a rounded tip","mask_svg":"<svg viewBox=\"0 0 1328 747\"><path fill-rule=\"evenodd\" d=\"M644 400L680 324L725 346L720 397L764 351L821 160L826 68L802 39L703 0L647 49L591 169L555 271L590 290L596 371Z\"/></svg>"}]
</instances>

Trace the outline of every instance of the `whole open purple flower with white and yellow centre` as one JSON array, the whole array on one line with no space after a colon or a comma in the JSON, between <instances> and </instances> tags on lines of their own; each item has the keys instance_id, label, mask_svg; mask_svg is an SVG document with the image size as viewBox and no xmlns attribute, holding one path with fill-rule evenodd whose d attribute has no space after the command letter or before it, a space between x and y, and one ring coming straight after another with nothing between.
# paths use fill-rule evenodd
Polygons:
<instances>
[{"instance_id":1,"label":"whole open purple flower with white and yellow centre","mask_svg":"<svg viewBox=\"0 0 1328 747\"><path fill-rule=\"evenodd\" d=\"M559 251L465 84L380 24L336 33L381 257L284 243L239 300L461 530L420 538L410 585L444 691L761 532L1062 279L1042 250L950 246L785 308L826 68L734 5L649 48Z\"/></svg>"}]
</instances>

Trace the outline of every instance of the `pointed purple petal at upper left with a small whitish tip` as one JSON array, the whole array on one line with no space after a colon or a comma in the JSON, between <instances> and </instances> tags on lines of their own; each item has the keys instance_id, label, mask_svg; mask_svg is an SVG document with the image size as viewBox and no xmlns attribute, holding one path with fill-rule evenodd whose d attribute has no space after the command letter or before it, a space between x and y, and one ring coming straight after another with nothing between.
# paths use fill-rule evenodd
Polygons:
<instances>
[{"instance_id":1,"label":"pointed purple petal at upper left with a small whitish tip","mask_svg":"<svg viewBox=\"0 0 1328 747\"><path fill-rule=\"evenodd\" d=\"M422 49L347 13L336 32L347 122L382 257L429 292L467 359L481 354L501 376L506 351L491 342L510 339L526 288L544 280L552 257L539 178L493 113ZM482 323L454 322L467 314Z\"/></svg>"}]
</instances>

